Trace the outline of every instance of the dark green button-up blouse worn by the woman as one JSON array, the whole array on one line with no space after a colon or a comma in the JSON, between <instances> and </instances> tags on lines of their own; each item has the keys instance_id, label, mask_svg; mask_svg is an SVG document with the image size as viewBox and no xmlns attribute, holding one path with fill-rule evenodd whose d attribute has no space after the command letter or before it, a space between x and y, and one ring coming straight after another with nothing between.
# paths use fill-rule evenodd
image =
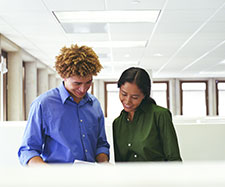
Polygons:
<instances>
[{"instance_id":1,"label":"dark green button-up blouse worn by the woman","mask_svg":"<svg viewBox=\"0 0 225 187\"><path fill-rule=\"evenodd\" d=\"M172 116L152 99L142 101L132 121L124 110L113 122L116 162L181 161Z\"/></svg>"}]
</instances>

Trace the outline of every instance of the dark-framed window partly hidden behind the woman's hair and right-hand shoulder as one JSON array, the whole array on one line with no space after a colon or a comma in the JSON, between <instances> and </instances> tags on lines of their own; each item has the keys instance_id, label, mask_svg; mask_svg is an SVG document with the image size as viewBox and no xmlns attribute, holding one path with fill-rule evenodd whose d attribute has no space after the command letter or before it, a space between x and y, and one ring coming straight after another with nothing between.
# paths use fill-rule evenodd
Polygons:
<instances>
[{"instance_id":1,"label":"dark-framed window partly hidden behind the woman's hair and right-hand shoulder","mask_svg":"<svg viewBox=\"0 0 225 187\"><path fill-rule=\"evenodd\" d=\"M151 97L157 105L169 109L169 82L154 81L151 88Z\"/></svg>"}]
</instances>

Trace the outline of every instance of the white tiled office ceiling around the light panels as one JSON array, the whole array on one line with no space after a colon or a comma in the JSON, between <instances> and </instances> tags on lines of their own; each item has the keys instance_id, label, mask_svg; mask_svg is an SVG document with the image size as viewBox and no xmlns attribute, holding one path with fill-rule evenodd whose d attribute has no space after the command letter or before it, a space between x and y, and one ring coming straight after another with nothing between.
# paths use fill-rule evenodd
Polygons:
<instances>
[{"instance_id":1,"label":"white tiled office ceiling around the light panels","mask_svg":"<svg viewBox=\"0 0 225 187\"><path fill-rule=\"evenodd\" d=\"M68 34L53 14L152 9L161 10L156 23L108 23L108 33ZM100 76L141 66L155 78L225 77L225 0L0 0L0 33L50 67L65 45L144 41L135 48L93 44Z\"/></svg>"}]
</instances>

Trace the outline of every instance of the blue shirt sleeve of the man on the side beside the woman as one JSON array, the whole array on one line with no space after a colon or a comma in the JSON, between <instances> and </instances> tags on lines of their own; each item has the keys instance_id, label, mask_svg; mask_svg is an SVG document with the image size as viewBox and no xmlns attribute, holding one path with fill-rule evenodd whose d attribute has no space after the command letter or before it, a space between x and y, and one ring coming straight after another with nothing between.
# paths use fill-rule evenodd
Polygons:
<instances>
[{"instance_id":1,"label":"blue shirt sleeve of the man on the side beside the woman","mask_svg":"<svg viewBox=\"0 0 225 187\"><path fill-rule=\"evenodd\" d=\"M98 142L97 142L97 150L96 150L96 156L100 153L105 153L109 157L109 143L107 142L106 133L105 133L105 120L104 115L101 110L101 117L99 119L99 136L98 136Z\"/></svg>"}]
</instances>

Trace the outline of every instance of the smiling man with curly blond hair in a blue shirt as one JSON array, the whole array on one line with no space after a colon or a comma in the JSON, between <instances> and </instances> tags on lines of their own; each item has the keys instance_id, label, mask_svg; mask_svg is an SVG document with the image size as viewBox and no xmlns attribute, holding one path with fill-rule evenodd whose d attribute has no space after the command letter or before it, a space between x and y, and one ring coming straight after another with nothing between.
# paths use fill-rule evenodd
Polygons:
<instances>
[{"instance_id":1,"label":"smiling man with curly blond hair in a blue shirt","mask_svg":"<svg viewBox=\"0 0 225 187\"><path fill-rule=\"evenodd\" d=\"M87 92L102 69L98 56L87 46L63 47L55 68L63 82L31 104L18 152L21 164L108 162L104 115Z\"/></svg>"}]
</instances>

